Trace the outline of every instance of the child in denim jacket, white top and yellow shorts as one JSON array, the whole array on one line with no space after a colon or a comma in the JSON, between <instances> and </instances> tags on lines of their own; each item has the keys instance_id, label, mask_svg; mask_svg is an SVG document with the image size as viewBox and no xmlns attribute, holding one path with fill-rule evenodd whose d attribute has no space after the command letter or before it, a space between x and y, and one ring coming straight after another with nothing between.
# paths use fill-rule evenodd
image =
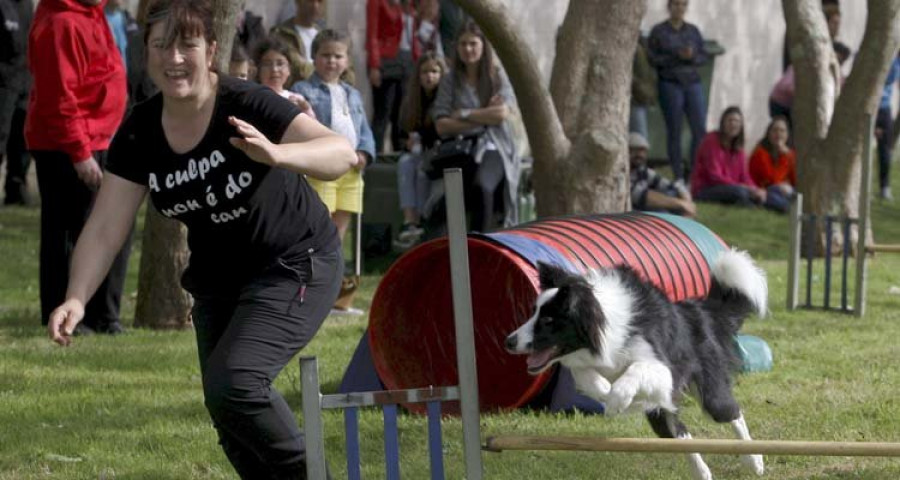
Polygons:
<instances>
[{"instance_id":1,"label":"child in denim jacket, white top and yellow shorts","mask_svg":"<svg viewBox=\"0 0 900 480\"><path fill-rule=\"evenodd\" d=\"M359 159L353 169L337 180L308 179L331 212L331 218L343 241L353 214L362 214L362 169L375 159L375 140L366 120L359 91L342 81L350 62L349 37L335 30L325 29L316 35L310 50L315 71L308 79L294 84L291 90L309 100L316 117L323 125L350 141ZM352 297L357 286L358 283L345 277L339 299ZM343 305L335 305L335 309L355 311L350 307L343 308Z\"/></svg>"}]
</instances>

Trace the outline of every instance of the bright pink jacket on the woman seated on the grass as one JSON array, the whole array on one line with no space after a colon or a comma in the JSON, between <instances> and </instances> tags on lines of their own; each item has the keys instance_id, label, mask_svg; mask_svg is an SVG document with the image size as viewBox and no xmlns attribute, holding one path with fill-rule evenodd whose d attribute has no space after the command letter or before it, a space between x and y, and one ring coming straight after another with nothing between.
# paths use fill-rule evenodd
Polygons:
<instances>
[{"instance_id":1,"label":"bright pink jacket on the woman seated on the grass","mask_svg":"<svg viewBox=\"0 0 900 480\"><path fill-rule=\"evenodd\" d=\"M697 148L697 159L691 172L691 194L715 185L746 185L756 187L747 167L744 150L725 150L719 142L719 132L703 137Z\"/></svg>"}]
</instances>

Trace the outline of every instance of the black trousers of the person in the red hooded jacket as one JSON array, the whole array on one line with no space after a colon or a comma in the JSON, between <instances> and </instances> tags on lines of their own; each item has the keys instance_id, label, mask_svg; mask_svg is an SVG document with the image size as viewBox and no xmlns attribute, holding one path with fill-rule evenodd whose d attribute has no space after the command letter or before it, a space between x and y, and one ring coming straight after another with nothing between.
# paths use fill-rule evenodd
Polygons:
<instances>
[{"instance_id":1,"label":"black trousers of the person in the red hooded jacket","mask_svg":"<svg viewBox=\"0 0 900 480\"><path fill-rule=\"evenodd\" d=\"M75 242L94 204L94 192L79 180L69 156L63 152L32 151L41 192L41 322L66 297L69 267ZM102 166L106 152L94 152ZM119 321L131 236L116 255L106 278L85 306L84 325L105 331Z\"/></svg>"}]
</instances>

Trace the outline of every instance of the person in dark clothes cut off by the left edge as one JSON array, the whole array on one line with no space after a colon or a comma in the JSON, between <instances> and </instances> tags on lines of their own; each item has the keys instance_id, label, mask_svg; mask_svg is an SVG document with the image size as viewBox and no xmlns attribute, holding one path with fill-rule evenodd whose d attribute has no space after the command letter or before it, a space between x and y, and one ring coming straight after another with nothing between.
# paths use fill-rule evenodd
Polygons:
<instances>
[{"instance_id":1,"label":"person in dark clothes cut off by the left edge","mask_svg":"<svg viewBox=\"0 0 900 480\"><path fill-rule=\"evenodd\" d=\"M6 205L25 205L28 200L23 130L31 76L25 50L33 11L31 0L0 0L0 162L5 153Z\"/></svg>"}]
</instances>

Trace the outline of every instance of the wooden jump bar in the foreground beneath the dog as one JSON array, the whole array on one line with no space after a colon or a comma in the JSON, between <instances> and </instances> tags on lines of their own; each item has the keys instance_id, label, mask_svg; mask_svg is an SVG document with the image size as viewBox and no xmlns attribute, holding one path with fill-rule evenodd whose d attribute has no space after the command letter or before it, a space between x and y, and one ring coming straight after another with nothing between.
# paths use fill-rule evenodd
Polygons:
<instances>
[{"instance_id":1,"label":"wooden jump bar in the foreground beneath the dog","mask_svg":"<svg viewBox=\"0 0 900 480\"><path fill-rule=\"evenodd\" d=\"M837 457L897 457L900 443L806 442L671 438L488 437L485 450L575 450L590 452L721 453Z\"/></svg>"}]
</instances>

